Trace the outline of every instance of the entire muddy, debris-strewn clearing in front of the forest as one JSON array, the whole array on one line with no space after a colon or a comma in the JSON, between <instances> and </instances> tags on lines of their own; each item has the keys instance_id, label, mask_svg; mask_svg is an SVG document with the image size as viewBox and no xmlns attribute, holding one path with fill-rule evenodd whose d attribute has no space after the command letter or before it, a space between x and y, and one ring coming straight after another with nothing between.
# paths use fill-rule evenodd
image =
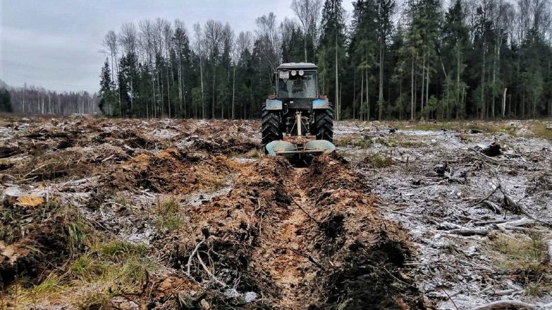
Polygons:
<instances>
[{"instance_id":1,"label":"entire muddy, debris-strewn clearing in front of the forest","mask_svg":"<svg viewBox=\"0 0 552 310\"><path fill-rule=\"evenodd\" d=\"M1 305L550 309L549 126L2 118Z\"/></svg>"}]
</instances>

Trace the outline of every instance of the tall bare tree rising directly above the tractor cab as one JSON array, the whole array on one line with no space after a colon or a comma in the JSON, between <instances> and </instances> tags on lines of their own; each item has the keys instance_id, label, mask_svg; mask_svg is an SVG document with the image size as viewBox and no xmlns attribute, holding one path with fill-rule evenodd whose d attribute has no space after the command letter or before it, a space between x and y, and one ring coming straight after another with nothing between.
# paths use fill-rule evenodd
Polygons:
<instances>
[{"instance_id":1,"label":"tall bare tree rising directly above the tractor cab","mask_svg":"<svg viewBox=\"0 0 552 310\"><path fill-rule=\"evenodd\" d=\"M310 37L314 44L314 40L317 37L318 22L321 15L320 10L322 10L322 0L293 0L291 8L303 26L303 50L306 62L308 61L306 55L306 41Z\"/></svg>"}]
</instances>

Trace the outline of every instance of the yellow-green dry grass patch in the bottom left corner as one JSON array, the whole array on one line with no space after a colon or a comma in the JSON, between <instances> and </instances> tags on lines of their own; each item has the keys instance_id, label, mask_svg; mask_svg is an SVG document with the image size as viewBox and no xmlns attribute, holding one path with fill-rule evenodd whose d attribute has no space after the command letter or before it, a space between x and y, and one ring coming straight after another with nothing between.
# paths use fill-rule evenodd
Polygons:
<instances>
[{"instance_id":1,"label":"yellow-green dry grass patch in the bottom left corner","mask_svg":"<svg viewBox=\"0 0 552 310\"><path fill-rule=\"evenodd\" d=\"M146 252L146 245L124 240L92 245L90 251L50 273L39 285L8 288L14 309L30 309L36 300L50 305L63 300L76 309L112 309L112 296L139 291L148 273L161 267Z\"/></svg>"}]
</instances>

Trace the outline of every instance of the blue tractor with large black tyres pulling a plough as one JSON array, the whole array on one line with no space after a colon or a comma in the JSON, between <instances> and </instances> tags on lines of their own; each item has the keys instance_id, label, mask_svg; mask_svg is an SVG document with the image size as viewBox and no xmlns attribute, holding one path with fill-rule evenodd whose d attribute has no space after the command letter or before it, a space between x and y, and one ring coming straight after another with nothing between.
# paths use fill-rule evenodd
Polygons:
<instances>
[{"instance_id":1,"label":"blue tractor with large black tyres pulling a plough","mask_svg":"<svg viewBox=\"0 0 552 310\"><path fill-rule=\"evenodd\" d=\"M275 94L262 110L265 154L301 158L335 150L332 105L319 95L317 69L313 63L282 63L277 68Z\"/></svg>"}]
</instances>

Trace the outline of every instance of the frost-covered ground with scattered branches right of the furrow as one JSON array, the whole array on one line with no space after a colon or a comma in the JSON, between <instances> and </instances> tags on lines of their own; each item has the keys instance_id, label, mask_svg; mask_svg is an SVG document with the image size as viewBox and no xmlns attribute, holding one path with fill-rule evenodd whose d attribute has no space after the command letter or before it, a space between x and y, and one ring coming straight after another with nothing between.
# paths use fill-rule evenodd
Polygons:
<instances>
[{"instance_id":1,"label":"frost-covered ground with scattered branches right of the furrow","mask_svg":"<svg viewBox=\"0 0 552 310\"><path fill-rule=\"evenodd\" d=\"M543 127L550 123L337 125L342 155L386 218L413 236L419 256L407 265L438 309L500 300L552 308L552 130L539 136Z\"/></svg>"}]
</instances>

